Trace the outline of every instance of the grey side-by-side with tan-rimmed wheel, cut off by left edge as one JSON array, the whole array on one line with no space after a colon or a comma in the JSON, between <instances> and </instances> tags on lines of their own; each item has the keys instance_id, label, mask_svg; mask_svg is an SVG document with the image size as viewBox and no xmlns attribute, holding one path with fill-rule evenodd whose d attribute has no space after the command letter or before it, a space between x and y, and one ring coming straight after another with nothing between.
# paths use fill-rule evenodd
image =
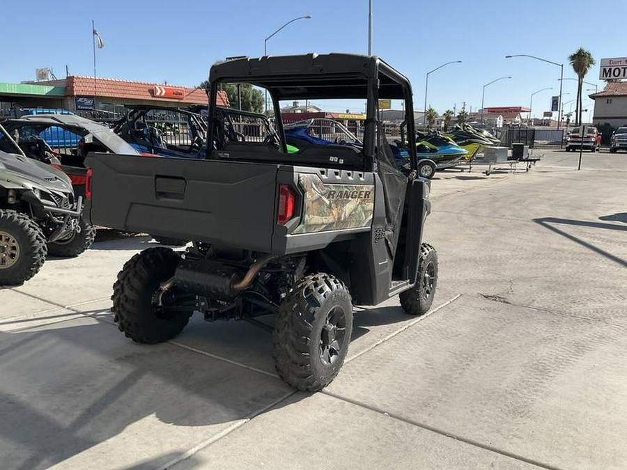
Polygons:
<instances>
[{"instance_id":1,"label":"grey side-by-side with tan-rimmed wheel, cut off by left edge","mask_svg":"<svg viewBox=\"0 0 627 470\"><path fill-rule=\"evenodd\" d=\"M31 279L48 254L88 249L95 230L81 214L68 175L26 157L0 125L0 285Z\"/></svg>"}]
</instances>

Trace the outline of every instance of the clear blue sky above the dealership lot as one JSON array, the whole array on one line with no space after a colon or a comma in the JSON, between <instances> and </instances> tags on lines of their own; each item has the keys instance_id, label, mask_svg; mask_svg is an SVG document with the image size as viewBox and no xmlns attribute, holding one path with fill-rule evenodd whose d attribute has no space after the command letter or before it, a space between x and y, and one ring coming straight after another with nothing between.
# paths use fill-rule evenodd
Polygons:
<instances>
[{"instance_id":1,"label":"clear blue sky above the dealership lot","mask_svg":"<svg viewBox=\"0 0 627 470\"><path fill-rule=\"evenodd\" d=\"M52 67L57 77L93 75L91 19L105 42L96 52L98 75L194 86L225 56L367 51L367 0L233 1L3 1L3 61L0 81L33 79L36 68ZM439 112L463 102L486 106L548 109L559 91L559 68L531 54L564 63L564 77L575 77L568 55L580 46L596 58L627 56L627 3L589 0L416 1L374 0L373 53L412 81L415 109L422 109L425 74L444 62L461 60L429 77L428 101ZM599 84L598 65L587 81ZM564 102L575 98L576 82L565 81ZM568 105L566 105L568 109ZM355 109L354 111L360 111Z\"/></svg>"}]
</instances>

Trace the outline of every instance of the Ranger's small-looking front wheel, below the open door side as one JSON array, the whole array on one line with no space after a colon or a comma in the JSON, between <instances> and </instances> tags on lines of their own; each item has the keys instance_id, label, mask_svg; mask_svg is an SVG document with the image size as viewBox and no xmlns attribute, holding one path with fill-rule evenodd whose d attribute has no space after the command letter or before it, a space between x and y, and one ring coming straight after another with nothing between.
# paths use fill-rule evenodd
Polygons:
<instances>
[{"instance_id":1,"label":"Ranger's small-looking front wheel, below the open door side","mask_svg":"<svg viewBox=\"0 0 627 470\"><path fill-rule=\"evenodd\" d=\"M420 246L416 285L398 295L401 306L410 315L424 315L431 308L438 285L438 252L430 244Z\"/></svg>"}]
</instances>

